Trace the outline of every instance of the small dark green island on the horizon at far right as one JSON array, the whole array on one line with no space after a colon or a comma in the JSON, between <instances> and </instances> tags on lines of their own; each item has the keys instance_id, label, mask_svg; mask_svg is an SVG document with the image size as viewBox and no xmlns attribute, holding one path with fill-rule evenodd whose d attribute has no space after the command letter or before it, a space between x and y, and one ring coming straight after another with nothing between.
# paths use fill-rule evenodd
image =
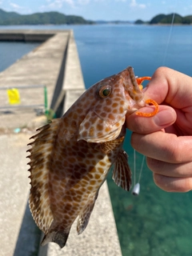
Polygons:
<instances>
[{"instance_id":1,"label":"small dark green island on the horizon at far right","mask_svg":"<svg viewBox=\"0 0 192 256\"><path fill-rule=\"evenodd\" d=\"M163 24L170 24L172 22L172 18L174 15L174 24L183 24L183 25L190 25L192 24L192 15L188 15L185 17L182 17L179 14L158 14L154 16L150 20L150 22L143 22L141 19L138 19L137 21L134 22L134 24L139 25L139 24L149 24L149 25L163 25Z\"/></svg>"}]
</instances>

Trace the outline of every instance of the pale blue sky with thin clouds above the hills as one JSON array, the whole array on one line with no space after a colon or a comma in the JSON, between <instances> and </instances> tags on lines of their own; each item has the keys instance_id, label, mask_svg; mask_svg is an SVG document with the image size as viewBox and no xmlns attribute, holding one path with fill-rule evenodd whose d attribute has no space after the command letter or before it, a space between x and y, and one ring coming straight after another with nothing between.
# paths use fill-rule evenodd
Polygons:
<instances>
[{"instance_id":1,"label":"pale blue sky with thin clouds above the hills","mask_svg":"<svg viewBox=\"0 0 192 256\"><path fill-rule=\"evenodd\" d=\"M156 14L192 14L191 0L0 0L0 8L19 14L59 11L90 20L149 21Z\"/></svg>"}]
</instances>

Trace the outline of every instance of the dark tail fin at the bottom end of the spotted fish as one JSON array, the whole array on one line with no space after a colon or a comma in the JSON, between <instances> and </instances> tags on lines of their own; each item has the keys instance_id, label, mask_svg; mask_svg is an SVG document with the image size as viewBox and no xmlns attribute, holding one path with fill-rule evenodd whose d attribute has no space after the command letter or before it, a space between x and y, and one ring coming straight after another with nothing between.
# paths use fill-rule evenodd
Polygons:
<instances>
[{"instance_id":1,"label":"dark tail fin at the bottom end of the spotted fish","mask_svg":"<svg viewBox=\"0 0 192 256\"><path fill-rule=\"evenodd\" d=\"M66 245L69 234L70 230L58 230L58 228L55 228L44 235L41 245L45 246L48 242L56 242L62 248Z\"/></svg>"}]
</instances>

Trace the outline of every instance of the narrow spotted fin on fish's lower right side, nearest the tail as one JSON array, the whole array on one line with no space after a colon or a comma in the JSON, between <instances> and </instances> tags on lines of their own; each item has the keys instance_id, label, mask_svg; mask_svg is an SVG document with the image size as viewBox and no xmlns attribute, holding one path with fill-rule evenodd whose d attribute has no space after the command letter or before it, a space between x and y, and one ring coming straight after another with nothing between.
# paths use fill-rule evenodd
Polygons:
<instances>
[{"instance_id":1,"label":"narrow spotted fin on fish's lower right side, nearest the tail","mask_svg":"<svg viewBox=\"0 0 192 256\"><path fill-rule=\"evenodd\" d=\"M89 198L89 201L86 203L86 206L82 209L82 212L79 214L78 223L77 223L77 231L78 234L82 234L82 232L86 229L86 226L90 220L90 214L94 209L94 203L98 197L98 193L93 197Z\"/></svg>"}]
</instances>

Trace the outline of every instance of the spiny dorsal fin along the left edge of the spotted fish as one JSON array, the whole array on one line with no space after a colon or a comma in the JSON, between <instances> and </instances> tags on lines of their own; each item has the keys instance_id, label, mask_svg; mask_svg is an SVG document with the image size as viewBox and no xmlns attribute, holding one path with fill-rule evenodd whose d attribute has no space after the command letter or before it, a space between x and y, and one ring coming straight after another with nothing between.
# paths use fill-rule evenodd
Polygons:
<instances>
[{"instance_id":1,"label":"spiny dorsal fin along the left edge of the spotted fish","mask_svg":"<svg viewBox=\"0 0 192 256\"><path fill-rule=\"evenodd\" d=\"M59 119L38 129L39 133L34 135L34 142L28 145L32 146L30 150L30 211L34 221L44 233L49 230L53 221L53 214L50 209L49 195L49 166L50 154L54 149L54 142L57 136ZM31 139L30 138L30 139Z\"/></svg>"}]
</instances>

